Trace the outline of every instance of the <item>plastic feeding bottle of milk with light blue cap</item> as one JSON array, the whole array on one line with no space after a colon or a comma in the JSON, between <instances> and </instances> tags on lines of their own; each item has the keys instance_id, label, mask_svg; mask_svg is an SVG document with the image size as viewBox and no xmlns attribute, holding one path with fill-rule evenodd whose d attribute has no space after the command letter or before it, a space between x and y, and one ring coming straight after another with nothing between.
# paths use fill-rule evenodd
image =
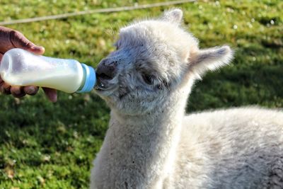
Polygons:
<instances>
[{"instance_id":1,"label":"plastic feeding bottle of milk with light blue cap","mask_svg":"<svg viewBox=\"0 0 283 189\"><path fill-rule=\"evenodd\" d=\"M2 57L0 74L11 86L42 86L66 93L89 92L96 84L93 67L75 59L44 57L17 48Z\"/></svg>"}]
</instances>

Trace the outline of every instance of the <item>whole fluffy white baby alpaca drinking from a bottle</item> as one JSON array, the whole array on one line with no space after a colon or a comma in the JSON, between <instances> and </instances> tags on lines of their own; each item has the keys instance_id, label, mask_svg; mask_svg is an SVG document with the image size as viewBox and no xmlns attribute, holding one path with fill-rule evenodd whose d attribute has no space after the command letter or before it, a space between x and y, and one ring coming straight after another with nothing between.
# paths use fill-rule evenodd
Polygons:
<instances>
[{"instance_id":1,"label":"whole fluffy white baby alpaca drinking from a bottle","mask_svg":"<svg viewBox=\"0 0 283 189\"><path fill-rule=\"evenodd\" d=\"M283 188L283 113L233 108L185 116L192 85L229 64L228 46L200 50L183 12L120 30L97 68L111 108L91 188Z\"/></svg>"}]
</instances>

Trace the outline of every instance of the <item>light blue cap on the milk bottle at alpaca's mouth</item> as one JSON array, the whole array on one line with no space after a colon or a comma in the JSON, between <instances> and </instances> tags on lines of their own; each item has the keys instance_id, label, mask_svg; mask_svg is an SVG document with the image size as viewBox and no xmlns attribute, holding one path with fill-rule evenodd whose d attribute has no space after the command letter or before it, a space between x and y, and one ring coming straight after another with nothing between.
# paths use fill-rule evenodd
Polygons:
<instances>
[{"instance_id":1,"label":"light blue cap on the milk bottle at alpaca's mouth","mask_svg":"<svg viewBox=\"0 0 283 189\"><path fill-rule=\"evenodd\" d=\"M83 85L83 88L76 92L87 93L93 90L93 87L96 85L96 71L93 69L93 67L89 67L86 64L81 64L81 66L83 67L83 71L86 74L86 81Z\"/></svg>"}]
</instances>

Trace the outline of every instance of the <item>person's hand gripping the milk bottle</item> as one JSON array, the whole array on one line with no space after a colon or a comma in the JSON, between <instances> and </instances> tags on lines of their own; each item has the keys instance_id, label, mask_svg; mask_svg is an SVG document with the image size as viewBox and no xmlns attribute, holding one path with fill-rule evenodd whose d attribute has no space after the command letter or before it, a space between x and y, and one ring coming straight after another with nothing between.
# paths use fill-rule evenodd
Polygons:
<instances>
[{"instance_id":1,"label":"person's hand gripping the milk bottle","mask_svg":"<svg viewBox=\"0 0 283 189\"><path fill-rule=\"evenodd\" d=\"M30 42L25 36L9 28L0 26L0 62L4 53L13 48L21 48L23 50L28 50L37 55L42 55L45 52L44 47L37 46ZM0 76L0 91L4 94L12 94L16 98L21 98L28 95L35 95L38 91L37 86L10 86L6 84ZM52 88L43 88L47 98L52 101L57 101L57 91Z\"/></svg>"}]
</instances>

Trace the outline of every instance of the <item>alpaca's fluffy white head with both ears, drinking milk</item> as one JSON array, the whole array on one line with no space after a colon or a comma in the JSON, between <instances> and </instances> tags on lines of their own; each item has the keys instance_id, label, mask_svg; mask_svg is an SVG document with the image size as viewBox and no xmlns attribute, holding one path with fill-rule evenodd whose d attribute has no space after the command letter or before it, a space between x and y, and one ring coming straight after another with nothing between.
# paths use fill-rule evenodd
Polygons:
<instances>
[{"instance_id":1,"label":"alpaca's fluffy white head with both ears, drinking milk","mask_svg":"<svg viewBox=\"0 0 283 189\"><path fill-rule=\"evenodd\" d=\"M174 9L120 30L117 50L96 70L96 92L111 108L126 115L148 113L205 71L229 63L228 46L200 50L197 39L180 27L182 17Z\"/></svg>"}]
</instances>

